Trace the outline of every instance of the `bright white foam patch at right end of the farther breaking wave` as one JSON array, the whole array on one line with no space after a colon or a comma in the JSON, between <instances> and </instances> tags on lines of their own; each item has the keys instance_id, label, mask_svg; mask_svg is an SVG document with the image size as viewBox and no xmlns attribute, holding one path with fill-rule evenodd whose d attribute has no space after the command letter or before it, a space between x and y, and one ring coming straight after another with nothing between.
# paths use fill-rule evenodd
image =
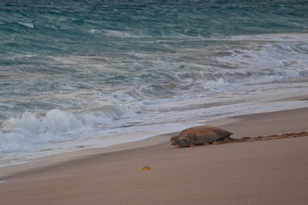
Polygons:
<instances>
[{"instance_id":1,"label":"bright white foam patch at right end of the farther breaking wave","mask_svg":"<svg viewBox=\"0 0 308 205\"><path fill-rule=\"evenodd\" d=\"M243 78L244 84L258 84L290 77L308 76L308 55L303 45L265 44L258 50L233 49L216 59L239 69L222 69L225 79Z\"/></svg>"}]
</instances>

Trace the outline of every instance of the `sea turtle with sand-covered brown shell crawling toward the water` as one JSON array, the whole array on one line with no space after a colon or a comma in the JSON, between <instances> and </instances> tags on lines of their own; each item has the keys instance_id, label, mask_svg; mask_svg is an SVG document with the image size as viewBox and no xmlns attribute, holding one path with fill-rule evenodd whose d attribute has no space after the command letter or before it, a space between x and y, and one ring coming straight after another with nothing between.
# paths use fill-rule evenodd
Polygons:
<instances>
[{"instance_id":1,"label":"sea turtle with sand-covered brown shell crawling toward the water","mask_svg":"<svg viewBox=\"0 0 308 205\"><path fill-rule=\"evenodd\" d=\"M216 127L198 126L183 130L178 136L172 136L170 141L173 146L189 147L190 145L212 144L214 141L237 140L230 138L232 134Z\"/></svg>"}]
</instances>

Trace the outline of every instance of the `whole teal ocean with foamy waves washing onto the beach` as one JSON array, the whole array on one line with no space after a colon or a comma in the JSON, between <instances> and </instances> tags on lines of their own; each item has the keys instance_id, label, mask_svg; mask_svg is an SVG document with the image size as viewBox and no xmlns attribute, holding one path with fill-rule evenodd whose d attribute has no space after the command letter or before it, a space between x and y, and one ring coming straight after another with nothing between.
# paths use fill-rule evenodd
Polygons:
<instances>
[{"instance_id":1,"label":"whole teal ocean with foamy waves washing onto the beach","mask_svg":"<svg viewBox=\"0 0 308 205\"><path fill-rule=\"evenodd\" d=\"M308 107L308 1L0 2L0 166Z\"/></svg>"}]
</instances>

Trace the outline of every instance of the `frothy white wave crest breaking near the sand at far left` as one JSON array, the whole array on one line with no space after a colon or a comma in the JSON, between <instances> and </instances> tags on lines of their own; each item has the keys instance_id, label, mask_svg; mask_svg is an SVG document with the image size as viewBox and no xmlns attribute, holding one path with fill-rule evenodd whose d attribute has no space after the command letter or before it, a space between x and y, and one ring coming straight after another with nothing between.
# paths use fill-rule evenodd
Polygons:
<instances>
[{"instance_id":1,"label":"frothy white wave crest breaking near the sand at far left","mask_svg":"<svg viewBox=\"0 0 308 205\"><path fill-rule=\"evenodd\" d=\"M109 106L95 113L70 113L51 110L45 115L25 112L1 125L0 152L26 151L36 145L90 134L98 126L109 125L124 115L117 106Z\"/></svg>"}]
</instances>

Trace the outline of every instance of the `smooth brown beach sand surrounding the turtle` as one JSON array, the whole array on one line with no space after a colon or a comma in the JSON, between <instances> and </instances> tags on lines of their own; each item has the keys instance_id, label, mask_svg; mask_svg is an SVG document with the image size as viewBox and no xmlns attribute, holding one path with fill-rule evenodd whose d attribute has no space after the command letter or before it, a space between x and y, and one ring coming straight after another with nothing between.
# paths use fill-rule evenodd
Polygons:
<instances>
[{"instance_id":1,"label":"smooth brown beach sand surrounding the turtle","mask_svg":"<svg viewBox=\"0 0 308 205\"><path fill-rule=\"evenodd\" d=\"M227 121L220 127L237 138L308 131L308 109ZM14 166L22 172L11 176L4 175L12 167L0 169L7 172L0 178L6 181L0 183L1 204L308 204L306 136L182 149L171 148L169 138L44 167L41 159L41 168ZM152 170L140 171L144 165Z\"/></svg>"}]
</instances>

